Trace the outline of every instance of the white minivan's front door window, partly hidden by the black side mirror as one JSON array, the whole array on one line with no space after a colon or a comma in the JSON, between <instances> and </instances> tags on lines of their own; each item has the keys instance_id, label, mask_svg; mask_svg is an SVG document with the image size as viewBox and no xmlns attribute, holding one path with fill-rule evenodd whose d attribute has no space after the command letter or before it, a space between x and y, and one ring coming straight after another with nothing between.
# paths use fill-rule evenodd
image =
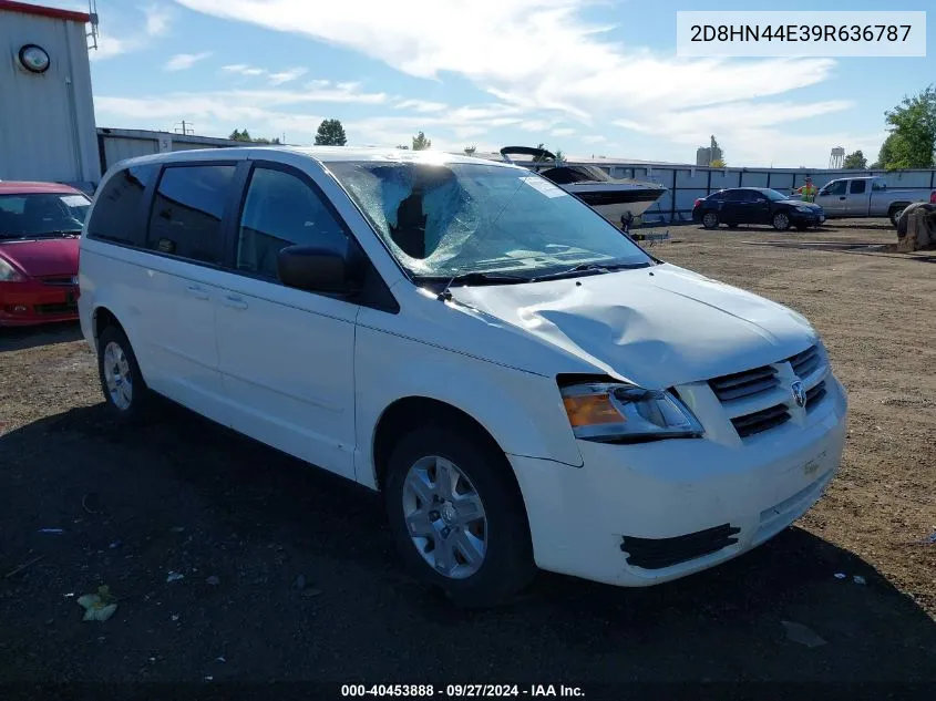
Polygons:
<instances>
[{"instance_id":1,"label":"white minivan's front door window, partly hidden by the black side mirror","mask_svg":"<svg viewBox=\"0 0 936 701\"><path fill-rule=\"evenodd\" d=\"M250 176L237 238L237 269L277 277L276 257L298 244L346 252L348 236L308 184L282 171Z\"/></svg>"}]
</instances>

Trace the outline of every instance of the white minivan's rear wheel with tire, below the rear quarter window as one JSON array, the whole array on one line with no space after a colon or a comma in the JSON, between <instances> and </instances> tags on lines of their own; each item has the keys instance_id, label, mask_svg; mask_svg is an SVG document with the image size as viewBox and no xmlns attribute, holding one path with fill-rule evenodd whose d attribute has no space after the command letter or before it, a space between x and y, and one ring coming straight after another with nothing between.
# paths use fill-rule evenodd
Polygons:
<instances>
[{"instance_id":1,"label":"white minivan's rear wheel with tire, below the rear quarter window","mask_svg":"<svg viewBox=\"0 0 936 701\"><path fill-rule=\"evenodd\" d=\"M97 377L111 415L122 423L145 419L153 395L143 381L126 334L109 326L97 337Z\"/></svg>"}]
</instances>

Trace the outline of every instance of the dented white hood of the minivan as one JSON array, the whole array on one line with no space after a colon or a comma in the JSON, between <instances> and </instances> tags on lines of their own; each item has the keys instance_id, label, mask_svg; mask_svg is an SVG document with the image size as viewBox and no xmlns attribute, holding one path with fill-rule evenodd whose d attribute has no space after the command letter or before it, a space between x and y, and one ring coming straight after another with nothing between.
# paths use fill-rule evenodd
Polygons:
<instances>
[{"instance_id":1,"label":"dented white hood of the minivan","mask_svg":"<svg viewBox=\"0 0 936 701\"><path fill-rule=\"evenodd\" d=\"M776 362L816 339L799 313L671 265L452 295L562 355L649 389ZM541 353L529 358L542 362Z\"/></svg>"}]
</instances>

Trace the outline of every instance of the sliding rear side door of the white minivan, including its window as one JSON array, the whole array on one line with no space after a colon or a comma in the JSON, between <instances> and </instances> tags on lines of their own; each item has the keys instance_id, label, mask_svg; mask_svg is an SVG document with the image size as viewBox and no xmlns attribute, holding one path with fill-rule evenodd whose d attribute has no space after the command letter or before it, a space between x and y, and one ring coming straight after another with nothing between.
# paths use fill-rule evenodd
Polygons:
<instances>
[{"instance_id":1,"label":"sliding rear side door of the white minivan, including its window","mask_svg":"<svg viewBox=\"0 0 936 701\"><path fill-rule=\"evenodd\" d=\"M193 162L163 171L146 235L146 248L156 255L146 257L124 291L147 383L220 423L227 423L227 402L215 338L216 279L236 166Z\"/></svg>"}]
</instances>

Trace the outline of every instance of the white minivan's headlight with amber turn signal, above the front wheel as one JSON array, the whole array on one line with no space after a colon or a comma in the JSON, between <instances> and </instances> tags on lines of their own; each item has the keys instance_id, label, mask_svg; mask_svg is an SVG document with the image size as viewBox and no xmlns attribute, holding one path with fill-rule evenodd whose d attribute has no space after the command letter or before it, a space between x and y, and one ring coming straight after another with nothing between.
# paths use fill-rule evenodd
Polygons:
<instances>
[{"instance_id":1,"label":"white minivan's headlight with amber turn signal, above the front wheel","mask_svg":"<svg viewBox=\"0 0 936 701\"><path fill-rule=\"evenodd\" d=\"M639 443L697 439L702 425L669 392L632 384L589 382L562 390L563 404L577 439Z\"/></svg>"}]
</instances>

